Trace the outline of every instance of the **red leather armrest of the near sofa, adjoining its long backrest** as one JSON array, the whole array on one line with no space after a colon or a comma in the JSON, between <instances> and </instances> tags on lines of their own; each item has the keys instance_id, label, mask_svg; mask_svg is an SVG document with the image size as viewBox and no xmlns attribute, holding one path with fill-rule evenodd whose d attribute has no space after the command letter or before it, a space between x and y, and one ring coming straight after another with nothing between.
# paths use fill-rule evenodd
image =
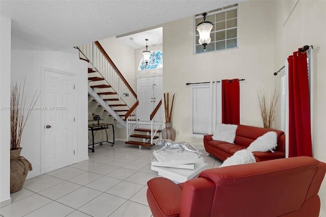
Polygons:
<instances>
[{"instance_id":1,"label":"red leather armrest of the near sofa, adjoining its long backrest","mask_svg":"<svg viewBox=\"0 0 326 217\"><path fill-rule=\"evenodd\" d=\"M183 185L180 217L211 216L215 184L206 178L188 180Z\"/></svg>"}]
</instances>

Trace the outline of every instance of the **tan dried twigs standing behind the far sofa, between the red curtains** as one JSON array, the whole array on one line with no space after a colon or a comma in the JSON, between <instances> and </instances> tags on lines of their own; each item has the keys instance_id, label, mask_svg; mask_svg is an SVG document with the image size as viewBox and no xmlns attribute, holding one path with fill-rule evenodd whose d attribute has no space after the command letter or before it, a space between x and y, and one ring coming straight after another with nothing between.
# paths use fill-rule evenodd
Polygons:
<instances>
[{"instance_id":1,"label":"tan dried twigs standing behind the far sofa, between the red curtains","mask_svg":"<svg viewBox=\"0 0 326 217\"><path fill-rule=\"evenodd\" d=\"M261 114L261 119L263 121L264 128L273 128L275 113L276 113L276 104L279 98L276 90L270 96L268 100L268 94L266 90L257 92L258 101L259 101L259 109Z\"/></svg>"}]
</instances>

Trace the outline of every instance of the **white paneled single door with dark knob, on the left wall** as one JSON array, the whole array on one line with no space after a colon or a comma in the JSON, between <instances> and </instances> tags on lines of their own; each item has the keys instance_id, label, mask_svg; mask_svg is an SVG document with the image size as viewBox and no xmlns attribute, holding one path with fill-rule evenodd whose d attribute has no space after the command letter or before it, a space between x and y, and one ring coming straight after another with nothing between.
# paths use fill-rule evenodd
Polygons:
<instances>
[{"instance_id":1,"label":"white paneled single door with dark knob, on the left wall","mask_svg":"<svg viewBox=\"0 0 326 217\"><path fill-rule=\"evenodd\" d=\"M74 162L74 77L45 70L44 73L44 172Z\"/></svg>"}]
</instances>

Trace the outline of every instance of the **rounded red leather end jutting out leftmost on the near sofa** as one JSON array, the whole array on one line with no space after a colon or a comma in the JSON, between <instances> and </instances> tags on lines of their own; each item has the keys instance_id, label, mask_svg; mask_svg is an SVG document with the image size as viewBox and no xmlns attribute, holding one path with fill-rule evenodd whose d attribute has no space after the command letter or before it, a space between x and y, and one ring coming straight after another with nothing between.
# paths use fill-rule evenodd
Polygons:
<instances>
[{"instance_id":1,"label":"rounded red leather end jutting out leftmost on the near sofa","mask_svg":"<svg viewBox=\"0 0 326 217\"><path fill-rule=\"evenodd\" d=\"M147 182L147 202L153 216L179 216L182 188L163 177Z\"/></svg>"}]
</instances>

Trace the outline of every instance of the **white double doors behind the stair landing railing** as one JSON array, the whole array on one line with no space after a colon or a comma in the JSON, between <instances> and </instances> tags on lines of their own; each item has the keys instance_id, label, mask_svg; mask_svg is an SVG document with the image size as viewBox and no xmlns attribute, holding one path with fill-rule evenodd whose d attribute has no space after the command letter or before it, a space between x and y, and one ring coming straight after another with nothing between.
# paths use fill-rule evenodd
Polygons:
<instances>
[{"instance_id":1,"label":"white double doors behind the stair landing railing","mask_svg":"<svg viewBox=\"0 0 326 217\"><path fill-rule=\"evenodd\" d=\"M163 96L162 76L138 78L137 88L138 118L140 121L150 121L150 114Z\"/></svg>"}]
</instances>

